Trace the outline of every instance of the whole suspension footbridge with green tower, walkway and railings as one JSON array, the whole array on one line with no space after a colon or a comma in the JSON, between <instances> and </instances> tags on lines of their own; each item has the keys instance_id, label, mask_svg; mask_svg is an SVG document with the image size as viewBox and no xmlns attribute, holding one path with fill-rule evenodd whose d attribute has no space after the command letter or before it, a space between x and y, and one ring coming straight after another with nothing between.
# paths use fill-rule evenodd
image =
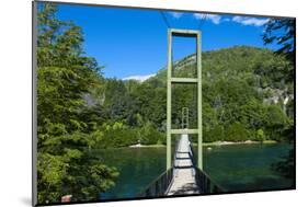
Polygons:
<instances>
[{"instance_id":1,"label":"whole suspension footbridge with green tower, walkway and railings","mask_svg":"<svg viewBox=\"0 0 308 207\"><path fill-rule=\"evenodd\" d=\"M202 137L202 47L201 31L168 30L168 71L167 71L167 170L158 176L138 197L161 197L172 195L196 195L221 193L223 189L215 184L203 171L203 137ZM196 38L196 77L172 77L172 37ZM197 88L197 128L190 128L189 108L182 108L182 127L172 128L171 97L173 84L195 84ZM173 136L172 136L173 135ZM175 136L174 136L175 135ZM194 154L191 135L197 135L197 156ZM171 138L178 137L171 153ZM197 157L197 163L195 162Z\"/></svg>"}]
</instances>

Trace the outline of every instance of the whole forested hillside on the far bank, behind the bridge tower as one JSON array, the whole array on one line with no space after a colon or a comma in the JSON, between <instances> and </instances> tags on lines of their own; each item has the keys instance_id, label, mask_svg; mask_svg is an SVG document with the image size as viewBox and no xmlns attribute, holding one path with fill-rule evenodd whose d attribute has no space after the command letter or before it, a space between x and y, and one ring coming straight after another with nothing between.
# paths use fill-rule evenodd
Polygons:
<instances>
[{"instance_id":1,"label":"whole forested hillside on the far bank, behind the bridge tower","mask_svg":"<svg viewBox=\"0 0 308 207\"><path fill-rule=\"evenodd\" d=\"M293 67L285 58L247 46L202 56L204 141L293 139L294 82L288 78ZM174 76L195 76L193 55L174 65ZM103 80L92 92L101 101L87 112L99 114L90 126L104 131L101 147L166 142L166 69L144 82ZM190 108L190 128L195 128L196 88L176 84L172 94L172 128L181 127L182 107Z\"/></svg>"}]
</instances>

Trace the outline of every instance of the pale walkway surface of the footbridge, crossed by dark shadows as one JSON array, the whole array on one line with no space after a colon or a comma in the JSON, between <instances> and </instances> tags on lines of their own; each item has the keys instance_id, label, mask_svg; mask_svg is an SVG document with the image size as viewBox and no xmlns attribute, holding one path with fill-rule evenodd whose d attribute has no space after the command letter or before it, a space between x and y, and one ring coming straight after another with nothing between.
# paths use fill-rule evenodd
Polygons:
<instances>
[{"instance_id":1,"label":"pale walkway surface of the footbridge, crossed by dark shadows","mask_svg":"<svg viewBox=\"0 0 308 207\"><path fill-rule=\"evenodd\" d=\"M183 134L175 149L174 176L167 195L185 195L199 193L195 180L195 169L190 156L189 135Z\"/></svg>"}]
</instances>

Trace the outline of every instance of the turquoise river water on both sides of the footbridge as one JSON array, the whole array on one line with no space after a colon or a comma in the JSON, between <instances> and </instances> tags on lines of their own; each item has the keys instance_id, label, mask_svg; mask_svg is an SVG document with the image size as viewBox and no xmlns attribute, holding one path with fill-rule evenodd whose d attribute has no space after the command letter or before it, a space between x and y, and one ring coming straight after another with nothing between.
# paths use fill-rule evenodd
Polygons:
<instances>
[{"instance_id":1,"label":"turquoise river water on both sides of the footbridge","mask_svg":"<svg viewBox=\"0 0 308 207\"><path fill-rule=\"evenodd\" d=\"M287 188L293 181L271 165L287 156L290 145L231 145L204 147L204 169L228 192ZM117 168L116 185L101 199L133 198L166 170L166 148L123 148L96 151L102 161Z\"/></svg>"}]
</instances>

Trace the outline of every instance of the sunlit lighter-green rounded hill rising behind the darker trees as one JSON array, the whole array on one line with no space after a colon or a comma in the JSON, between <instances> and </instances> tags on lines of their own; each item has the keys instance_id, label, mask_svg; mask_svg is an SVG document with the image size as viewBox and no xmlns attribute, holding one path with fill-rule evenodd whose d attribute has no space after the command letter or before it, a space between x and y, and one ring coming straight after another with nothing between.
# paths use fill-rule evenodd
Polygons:
<instances>
[{"instance_id":1,"label":"sunlit lighter-green rounded hill rising behind the darker trees","mask_svg":"<svg viewBox=\"0 0 308 207\"><path fill-rule=\"evenodd\" d=\"M293 80L285 73L293 67L273 51L264 48L236 46L219 50L204 51L202 54L203 82L213 84L218 80L247 81L264 96L264 102L290 102L294 99ZM190 55L174 62L173 76L195 77L195 55ZM158 80L166 84L167 70L159 70L156 77L148 80Z\"/></svg>"}]
</instances>

